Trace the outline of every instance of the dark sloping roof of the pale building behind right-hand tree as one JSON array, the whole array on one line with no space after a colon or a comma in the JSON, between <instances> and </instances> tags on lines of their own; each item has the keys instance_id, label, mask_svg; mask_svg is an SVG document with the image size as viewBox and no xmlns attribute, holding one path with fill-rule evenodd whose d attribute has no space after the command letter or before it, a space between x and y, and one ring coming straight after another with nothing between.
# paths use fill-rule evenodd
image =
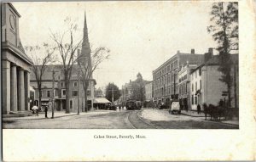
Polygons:
<instances>
[{"instance_id":1,"label":"dark sloping roof of the pale building behind right-hand tree","mask_svg":"<svg viewBox=\"0 0 256 162\"><path fill-rule=\"evenodd\" d=\"M232 61L232 64L238 63L238 54L230 54L230 59ZM195 69L191 70L190 74L193 73L195 70L198 70L204 65L218 65L218 64L219 64L218 55L213 55L212 59L209 59L206 63L202 63L198 65Z\"/></svg>"}]
</instances>

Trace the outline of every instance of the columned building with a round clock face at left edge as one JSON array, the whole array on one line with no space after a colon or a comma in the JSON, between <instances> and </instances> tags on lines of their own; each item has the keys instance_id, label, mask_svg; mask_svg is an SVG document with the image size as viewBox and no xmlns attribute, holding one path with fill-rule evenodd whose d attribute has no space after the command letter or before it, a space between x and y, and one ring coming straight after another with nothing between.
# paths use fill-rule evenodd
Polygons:
<instances>
[{"instance_id":1,"label":"columned building with a round clock face at left edge","mask_svg":"<svg viewBox=\"0 0 256 162\"><path fill-rule=\"evenodd\" d=\"M20 42L20 14L11 3L2 3L2 112L29 110L32 60Z\"/></svg>"}]
</instances>

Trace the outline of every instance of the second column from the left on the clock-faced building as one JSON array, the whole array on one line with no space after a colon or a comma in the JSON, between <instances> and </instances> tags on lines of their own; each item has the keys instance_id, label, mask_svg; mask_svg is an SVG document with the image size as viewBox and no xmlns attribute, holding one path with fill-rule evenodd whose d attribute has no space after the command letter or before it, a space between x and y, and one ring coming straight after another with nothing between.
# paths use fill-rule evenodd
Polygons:
<instances>
[{"instance_id":1,"label":"second column from the left on the clock-faced building","mask_svg":"<svg viewBox=\"0 0 256 162\"><path fill-rule=\"evenodd\" d=\"M17 111L18 110L18 100L17 100L17 68L16 64L12 64L11 66L11 80L10 80L10 110Z\"/></svg>"}]
</instances>

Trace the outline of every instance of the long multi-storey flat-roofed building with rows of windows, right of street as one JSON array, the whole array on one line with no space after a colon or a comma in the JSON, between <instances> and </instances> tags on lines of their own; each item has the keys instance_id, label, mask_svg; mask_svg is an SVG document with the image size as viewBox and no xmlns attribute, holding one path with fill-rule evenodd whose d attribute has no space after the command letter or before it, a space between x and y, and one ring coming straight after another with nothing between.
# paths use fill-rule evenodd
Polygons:
<instances>
[{"instance_id":1,"label":"long multi-storey flat-roofed building with rows of windows, right of street","mask_svg":"<svg viewBox=\"0 0 256 162\"><path fill-rule=\"evenodd\" d=\"M173 98L178 98L178 70L182 64L189 61L189 64L202 63L203 54L196 54L195 49L191 53L180 53L172 56L164 64L161 64L153 71L153 100L155 104L166 103Z\"/></svg>"}]
</instances>

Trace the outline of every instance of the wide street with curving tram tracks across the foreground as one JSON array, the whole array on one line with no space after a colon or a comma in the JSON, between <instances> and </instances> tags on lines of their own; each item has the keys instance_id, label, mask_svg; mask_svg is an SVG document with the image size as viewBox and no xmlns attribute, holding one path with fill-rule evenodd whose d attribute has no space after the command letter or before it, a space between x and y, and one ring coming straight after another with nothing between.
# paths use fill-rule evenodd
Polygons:
<instances>
[{"instance_id":1,"label":"wide street with curving tram tracks across the foreground","mask_svg":"<svg viewBox=\"0 0 256 162\"><path fill-rule=\"evenodd\" d=\"M237 129L238 126L204 120L203 117L170 115L166 110L95 110L80 115L56 112L55 119L39 116L3 118L3 128L11 129ZM59 116L63 114L64 116ZM50 115L50 113L49 113ZM50 117L50 116L49 116Z\"/></svg>"}]
</instances>

